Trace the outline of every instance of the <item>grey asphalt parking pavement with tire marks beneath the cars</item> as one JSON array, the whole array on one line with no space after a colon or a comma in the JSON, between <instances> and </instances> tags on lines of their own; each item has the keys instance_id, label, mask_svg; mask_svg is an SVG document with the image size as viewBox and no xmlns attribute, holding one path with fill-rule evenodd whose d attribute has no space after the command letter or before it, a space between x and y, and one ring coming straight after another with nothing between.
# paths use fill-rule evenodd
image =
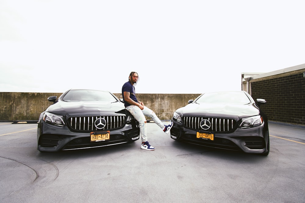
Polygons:
<instances>
[{"instance_id":1,"label":"grey asphalt parking pavement with tire marks beneath the cars","mask_svg":"<svg viewBox=\"0 0 305 203\"><path fill-rule=\"evenodd\" d=\"M168 121L164 121L168 124ZM269 123L269 156L141 141L39 152L37 124L0 123L0 202L305 202L305 128Z\"/></svg>"}]
</instances>

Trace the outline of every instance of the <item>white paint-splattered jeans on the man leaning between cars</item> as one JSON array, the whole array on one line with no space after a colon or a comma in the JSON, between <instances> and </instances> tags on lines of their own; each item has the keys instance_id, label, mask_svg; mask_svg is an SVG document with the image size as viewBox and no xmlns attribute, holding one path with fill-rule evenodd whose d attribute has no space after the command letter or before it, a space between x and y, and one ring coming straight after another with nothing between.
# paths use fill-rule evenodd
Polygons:
<instances>
[{"instance_id":1,"label":"white paint-splattered jeans on the man leaning between cars","mask_svg":"<svg viewBox=\"0 0 305 203\"><path fill-rule=\"evenodd\" d=\"M140 125L140 135L142 142L147 141L147 134L146 134L146 118L145 116L150 117L157 125L160 126L160 128L164 128L164 124L160 119L157 117L155 112L153 110L150 110L147 107L144 107L143 110L141 110L138 106L130 105L126 107L126 110L128 110L133 117L139 122Z\"/></svg>"}]
</instances>

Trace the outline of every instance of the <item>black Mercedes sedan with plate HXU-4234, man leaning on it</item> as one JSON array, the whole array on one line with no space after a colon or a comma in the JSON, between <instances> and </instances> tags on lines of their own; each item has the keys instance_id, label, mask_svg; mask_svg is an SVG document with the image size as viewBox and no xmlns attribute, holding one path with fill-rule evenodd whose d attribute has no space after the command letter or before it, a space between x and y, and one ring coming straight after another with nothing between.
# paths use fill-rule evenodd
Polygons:
<instances>
[{"instance_id":1,"label":"black Mercedes sedan with plate HXU-4234, man leaning on it","mask_svg":"<svg viewBox=\"0 0 305 203\"><path fill-rule=\"evenodd\" d=\"M54 152L134 142L139 124L115 95L107 91L70 89L39 116L37 149Z\"/></svg>"}]
</instances>

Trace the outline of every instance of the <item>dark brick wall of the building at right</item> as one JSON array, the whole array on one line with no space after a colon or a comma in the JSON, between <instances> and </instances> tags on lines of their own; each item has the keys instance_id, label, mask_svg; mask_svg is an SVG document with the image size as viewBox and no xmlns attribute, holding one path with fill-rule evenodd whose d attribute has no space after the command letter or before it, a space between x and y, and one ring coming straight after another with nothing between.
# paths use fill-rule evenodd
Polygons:
<instances>
[{"instance_id":1,"label":"dark brick wall of the building at right","mask_svg":"<svg viewBox=\"0 0 305 203\"><path fill-rule=\"evenodd\" d=\"M305 69L250 80L251 96L267 100L269 120L305 125Z\"/></svg>"}]
</instances>

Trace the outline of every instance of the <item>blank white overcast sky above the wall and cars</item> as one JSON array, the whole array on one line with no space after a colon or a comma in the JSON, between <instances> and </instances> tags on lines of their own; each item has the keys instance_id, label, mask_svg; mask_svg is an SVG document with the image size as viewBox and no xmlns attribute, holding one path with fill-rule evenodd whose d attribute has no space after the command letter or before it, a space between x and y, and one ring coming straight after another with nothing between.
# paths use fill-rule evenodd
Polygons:
<instances>
[{"instance_id":1,"label":"blank white overcast sky above the wall and cars","mask_svg":"<svg viewBox=\"0 0 305 203\"><path fill-rule=\"evenodd\" d=\"M0 92L241 90L305 63L305 1L0 0Z\"/></svg>"}]
</instances>

